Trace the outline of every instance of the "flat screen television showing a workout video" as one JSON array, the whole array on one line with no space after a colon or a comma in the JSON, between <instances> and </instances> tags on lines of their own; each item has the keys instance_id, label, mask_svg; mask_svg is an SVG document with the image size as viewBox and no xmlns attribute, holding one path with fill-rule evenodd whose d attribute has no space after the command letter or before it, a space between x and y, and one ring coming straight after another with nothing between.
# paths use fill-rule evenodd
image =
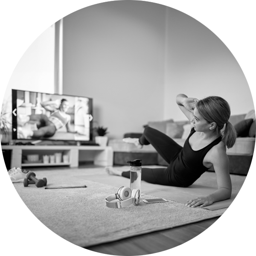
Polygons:
<instances>
[{"instance_id":1,"label":"flat screen television showing a workout video","mask_svg":"<svg viewBox=\"0 0 256 256\"><path fill-rule=\"evenodd\" d=\"M93 141L93 99L12 89L13 140Z\"/></svg>"}]
</instances>

